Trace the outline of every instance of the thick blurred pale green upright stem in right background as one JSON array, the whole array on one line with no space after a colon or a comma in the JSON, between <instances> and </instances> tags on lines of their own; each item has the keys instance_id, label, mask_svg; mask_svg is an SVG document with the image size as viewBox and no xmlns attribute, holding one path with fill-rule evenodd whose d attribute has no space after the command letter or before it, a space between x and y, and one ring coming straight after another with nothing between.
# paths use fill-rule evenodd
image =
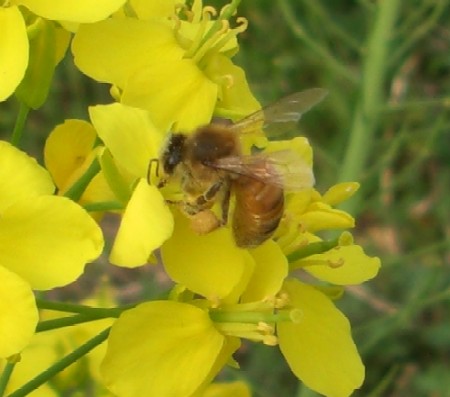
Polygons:
<instances>
[{"instance_id":1,"label":"thick blurred pale green upright stem in right background","mask_svg":"<svg viewBox=\"0 0 450 397\"><path fill-rule=\"evenodd\" d=\"M385 83L391 38L397 20L400 0L378 2L373 30L367 42L360 87L360 102L356 106L350 131L350 141L340 170L339 181L360 181L372 154L374 136L380 123L380 109L384 105ZM358 196L341 208L352 214L359 211Z\"/></svg>"}]
</instances>

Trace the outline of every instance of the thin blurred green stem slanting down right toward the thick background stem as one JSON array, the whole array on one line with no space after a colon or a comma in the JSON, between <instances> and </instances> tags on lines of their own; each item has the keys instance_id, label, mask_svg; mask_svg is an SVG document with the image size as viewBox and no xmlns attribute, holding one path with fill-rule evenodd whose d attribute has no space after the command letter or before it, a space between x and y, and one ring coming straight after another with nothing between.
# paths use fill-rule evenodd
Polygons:
<instances>
[{"instance_id":1,"label":"thin blurred green stem slanting down right toward the thick background stem","mask_svg":"<svg viewBox=\"0 0 450 397\"><path fill-rule=\"evenodd\" d=\"M336 59L324 46L319 44L305 31L303 26L297 21L295 12L289 2L287 0L280 0L278 5L292 33L302 40L318 57L322 58L322 63L334 73L356 84L357 77L350 71L349 67Z\"/></svg>"}]
</instances>

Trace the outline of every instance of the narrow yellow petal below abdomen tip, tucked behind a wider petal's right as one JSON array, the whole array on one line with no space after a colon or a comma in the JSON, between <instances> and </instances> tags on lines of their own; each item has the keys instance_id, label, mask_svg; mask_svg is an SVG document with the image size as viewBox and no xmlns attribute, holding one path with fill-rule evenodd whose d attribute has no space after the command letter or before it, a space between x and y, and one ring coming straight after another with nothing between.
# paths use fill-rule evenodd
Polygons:
<instances>
[{"instance_id":1,"label":"narrow yellow petal below abdomen tip, tucked behind a wider petal's right","mask_svg":"<svg viewBox=\"0 0 450 397\"><path fill-rule=\"evenodd\" d=\"M256 266L242 295L242 302L256 302L275 296L288 274L288 262L281 248L269 240L250 253Z\"/></svg>"}]
</instances>

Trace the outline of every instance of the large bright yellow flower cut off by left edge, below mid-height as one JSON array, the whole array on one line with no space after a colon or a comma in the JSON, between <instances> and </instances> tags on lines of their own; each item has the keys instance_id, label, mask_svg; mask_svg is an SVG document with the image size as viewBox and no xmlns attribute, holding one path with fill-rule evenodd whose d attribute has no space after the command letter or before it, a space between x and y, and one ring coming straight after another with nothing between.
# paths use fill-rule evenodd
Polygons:
<instances>
[{"instance_id":1,"label":"large bright yellow flower cut off by left edge, below mid-height","mask_svg":"<svg viewBox=\"0 0 450 397\"><path fill-rule=\"evenodd\" d=\"M0 262L5 277L0 332L8 335L1 339L0 351L10 355L11 349L19 352L26 344L24 335L34 331L37 318L30 289L47 290L76 280L86 262L100 255L103 238L82 208L52 196L54 186L44 168L3 141L0 179ZM9 301L12 305L3 307ZM14 313L13 308L20 310ZM11 322L11 316L17 321ZM16 327L17 332L11 332Z\"/></svg>"}]
</instances>

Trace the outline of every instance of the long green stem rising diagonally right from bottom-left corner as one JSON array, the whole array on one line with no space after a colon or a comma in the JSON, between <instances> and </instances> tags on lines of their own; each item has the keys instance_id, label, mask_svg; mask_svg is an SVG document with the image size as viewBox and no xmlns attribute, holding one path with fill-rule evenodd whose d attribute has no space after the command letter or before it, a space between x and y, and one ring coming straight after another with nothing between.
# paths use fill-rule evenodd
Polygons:
<instances>
[{"instance_id":1,"label":"long green stem rising diagonally right from bottom-left corner","mask_svg":"<svg viewBox=\"0 0 450 397\"><path fill-rule=\"evenodd\" d=\"M64 369L78 361L81 357L88 354L92 349L103 343L108 338L110 329L111 328L107 328L94 338L90 339L89 341L75 349L72 353L68 354L60 361L47 368L47 370L36 376L30 382L23 385L20 389L17 389L15 392L11 393L8 397L24 397L32 391L36 390L39 386L42 386L44 383L48 382L56 374L63 371Z\"/></svg>"}]
</instances>

